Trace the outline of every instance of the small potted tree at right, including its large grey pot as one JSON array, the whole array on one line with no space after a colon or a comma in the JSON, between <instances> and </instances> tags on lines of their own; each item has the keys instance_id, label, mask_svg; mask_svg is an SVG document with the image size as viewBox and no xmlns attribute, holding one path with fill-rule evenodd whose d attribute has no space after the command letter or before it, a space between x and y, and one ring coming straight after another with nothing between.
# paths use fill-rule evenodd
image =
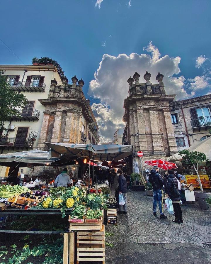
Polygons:
<instances>
[{"instance_id":1,"label":"small potted tree at right, including its large grey pot","mask_svg":"<svg viewBox=\"0 0 211 264\"><path fill-rule=\"evenodd\" d=\"M182 162L186 165L192 166L196 172L199 181L200 191L195 191L194 193L195 193L195 197L198 199L201 209L211 210L211 207L209 206L209 204L207 204L206 201L206 198L211 197L211 193L203 191L202 182L198 174L198 169L199 169L198 163L207 162L208 160L206 155L199 151L190 152L190 150L188 149L181 150L178 153L182 157Z\"/></svg>"}]
</instances>

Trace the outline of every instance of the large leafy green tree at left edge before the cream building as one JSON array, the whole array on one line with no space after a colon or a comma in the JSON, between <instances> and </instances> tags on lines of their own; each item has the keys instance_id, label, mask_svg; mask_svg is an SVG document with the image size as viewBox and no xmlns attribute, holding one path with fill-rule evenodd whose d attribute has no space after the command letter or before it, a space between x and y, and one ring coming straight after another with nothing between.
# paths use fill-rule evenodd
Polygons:
<instances>
[{"instance_id":1,"label":"large leafy green tree at left edge before the cream building","mask_svg":"<svg viewBox=\"0 0 211 264\"><path fill-rule=\"evenodd\" d=\"M0 70L0 131L5 129L4 122L12 115L19 115L15 108L23 108L26 103L26 97L14 92L7 84L7 76L3 75L4 72Z\"/></svg>"}]
</instances>

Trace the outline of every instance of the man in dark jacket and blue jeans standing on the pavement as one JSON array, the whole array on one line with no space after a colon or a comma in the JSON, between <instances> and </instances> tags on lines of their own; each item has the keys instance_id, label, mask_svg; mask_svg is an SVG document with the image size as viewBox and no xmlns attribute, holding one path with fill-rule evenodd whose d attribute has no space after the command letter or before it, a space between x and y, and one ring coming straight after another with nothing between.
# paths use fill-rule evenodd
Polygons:
<instances>
[{"instance_id":1,"label":"man in dark jacket and blue jeans standing on the pavement","mask_svg":"<svg viewBox=\"0 0 211 264\"><path fill-rule=\"evenodd\" d=\"M164 215L164 209L162 204L164 179L163 177L161 177L161 175L158 172L159 172L159 167L154 166L149 175L149 182L152 183L152 189L153 189L153 215L154 216L157 215L156 211L157 211L157 202L158 202L159 210L161 214L160 218L166 219L167 216Z\"/></svg>"}]
</instances>

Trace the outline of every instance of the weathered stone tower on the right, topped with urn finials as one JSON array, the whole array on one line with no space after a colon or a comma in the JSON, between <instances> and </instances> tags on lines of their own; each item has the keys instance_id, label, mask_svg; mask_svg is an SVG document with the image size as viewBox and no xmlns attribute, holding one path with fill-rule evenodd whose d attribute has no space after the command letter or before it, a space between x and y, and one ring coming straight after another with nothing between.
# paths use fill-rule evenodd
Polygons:
<instances>
[{"instance_id":1,"label":"weathered stone tower on the right, topped with urn finials","mask_svg":"<svg viewBox=\"0 0 211 264\"><path fill-rule=\"evenodd\" d=\"M129 96L124 101L123 121L128 143L133 145L133 161L140 165L137 151L143 151L143 161L165 159L177 152L177 146L169 106L176 95L166 94L161 73L156 76L158 84L150 82L149 72L144 74L146 83L139 83L139 77L135 72L127 80Z\"/></svg>"}]
</instances>

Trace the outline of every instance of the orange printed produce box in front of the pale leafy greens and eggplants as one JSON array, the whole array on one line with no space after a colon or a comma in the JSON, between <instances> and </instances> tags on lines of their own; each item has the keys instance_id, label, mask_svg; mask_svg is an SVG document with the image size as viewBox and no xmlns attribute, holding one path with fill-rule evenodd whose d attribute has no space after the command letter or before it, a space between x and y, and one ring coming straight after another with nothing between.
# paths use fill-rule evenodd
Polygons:
<instances>
[{"instance_id":1,"label":"orange printed produce box in front of the pale leafy greens and eggplants","mask_svg":"<svg viewBox=\"0 0 211 264\"><path fill-rule=\"evenodd\" d=\"M15 197L8 198L5 205L19 208L19 209L28 210L31 207L36 206L36 204L38 204L41 201L42 201L42 198L38 199L38 197L36 197L36 199L31 199L31 198L22 197L22 196L17 195Z\"/></svg>"}]
</instances>

